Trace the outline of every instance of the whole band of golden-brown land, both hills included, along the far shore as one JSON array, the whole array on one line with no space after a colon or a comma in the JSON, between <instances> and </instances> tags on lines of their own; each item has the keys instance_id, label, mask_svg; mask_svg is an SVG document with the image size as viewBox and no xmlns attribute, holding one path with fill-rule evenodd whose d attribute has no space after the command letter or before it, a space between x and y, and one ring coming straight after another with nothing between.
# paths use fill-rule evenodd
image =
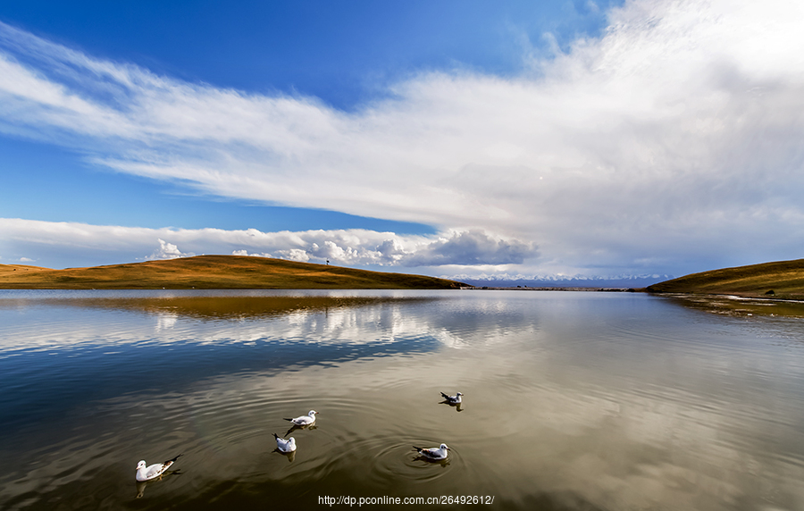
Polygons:
<instances>
[{"instance_id":1,"label":"whole band of golden-brown land, both hills included, along the far shore","mask_svg":"<svg viewBox=\"0 0 804 511\"><path fill-rule=\"evenodd\" d=\"M53 270L0 264L0 289L461 289L468 284L423 275L371 272L245 255L197 255L143 263ZM481 288L474 288L481 289ZM483 288L497 289L497 288ZM519 289L519 288L505 288ZM523 290L557 290L521 288ZM691 273L645 289L564 289L647 291L655 294L708 294L804 299L804 259L751 264Z\"/></svg>"}]
</instances>

